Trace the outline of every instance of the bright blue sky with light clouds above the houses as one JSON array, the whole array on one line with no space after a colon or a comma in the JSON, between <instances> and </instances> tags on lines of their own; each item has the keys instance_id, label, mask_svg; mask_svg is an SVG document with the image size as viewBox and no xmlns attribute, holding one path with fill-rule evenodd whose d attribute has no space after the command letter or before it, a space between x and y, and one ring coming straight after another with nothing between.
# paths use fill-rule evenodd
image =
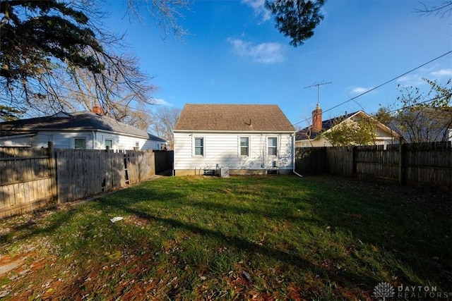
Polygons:
<instances>
[{"instance_id":1,"label":"bright blue sky with light clouds above the houses","mask_svg":"<svg viewBox=\"0 0 452 301\"><path fill-rule=\"evenodd\" d=\"M425 0L429 6L443 1ZM179 23L189 35L162 39L162 30L124 18L124 3L110 0L105 24L126 32L142 70L153 76L162 106L278 104L299 126L317 103L323 118L396 102L397 85L427 88L421 78L444 83L452 77L452 54L377 90L452 50L452 19L420 16L417 0L329 0L314 37L301 47L275 29L263 0L194 1ZM338 106L343 102L347 102ZM333 108L333 109L331 109Z\"/></svg>"}]
</instances>

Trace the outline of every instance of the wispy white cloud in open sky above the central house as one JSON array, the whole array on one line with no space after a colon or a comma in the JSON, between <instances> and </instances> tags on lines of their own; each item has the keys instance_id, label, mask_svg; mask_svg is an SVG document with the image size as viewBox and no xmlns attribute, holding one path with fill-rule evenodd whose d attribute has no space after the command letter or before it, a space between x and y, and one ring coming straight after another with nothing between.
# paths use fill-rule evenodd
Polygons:
<instances>
[{"instance_id":1,"label":"wispy white cloud in open sky above the central house","mask_svg":"<svg viewBox=\"0 0 452 301\"><path fill-rule=\"evenodd\" d=\"M252 44L242 39L228 38L234 53L242 57L250 57L258 63L279 63L283 61L283 45L279 43Z\"/></svg>"}]
</instances>

